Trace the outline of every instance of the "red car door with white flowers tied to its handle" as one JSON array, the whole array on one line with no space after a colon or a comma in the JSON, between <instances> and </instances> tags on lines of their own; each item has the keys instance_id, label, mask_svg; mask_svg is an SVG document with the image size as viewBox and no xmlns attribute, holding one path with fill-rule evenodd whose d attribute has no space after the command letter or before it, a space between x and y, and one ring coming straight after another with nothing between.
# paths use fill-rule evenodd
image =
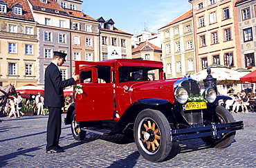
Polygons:
<instances>
[{"instance_id":1,"label":"red car door with white flowers tied to its handle","mask_svg":"<svg viewBox=\"0 0 256 168\"><path fill-rule=\"evenodd\" d=\"M80 71L82 91L75 89L77 121L111 120L113 118L113 82L111 67L98 65Z\"/></svg>"}]
</instances>

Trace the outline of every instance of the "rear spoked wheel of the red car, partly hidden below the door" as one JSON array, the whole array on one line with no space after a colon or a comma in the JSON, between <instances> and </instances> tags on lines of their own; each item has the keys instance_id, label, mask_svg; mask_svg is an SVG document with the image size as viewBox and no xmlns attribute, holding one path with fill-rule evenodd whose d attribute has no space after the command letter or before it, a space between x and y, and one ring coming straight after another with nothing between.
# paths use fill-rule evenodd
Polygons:
<instances>
[{"instance_id":1,"label":"rear spoked wheel of the red car, partly hidden below the door","mask_svg":"<svg viewBox=\"0 0 256 168\"><path fill-rule=\"evenodd\" d=\"M82 131L79 122L75 121L75 111L71 115L71 131L75 140L84 140L86 131Z\"/></svg>"}]
</instances>

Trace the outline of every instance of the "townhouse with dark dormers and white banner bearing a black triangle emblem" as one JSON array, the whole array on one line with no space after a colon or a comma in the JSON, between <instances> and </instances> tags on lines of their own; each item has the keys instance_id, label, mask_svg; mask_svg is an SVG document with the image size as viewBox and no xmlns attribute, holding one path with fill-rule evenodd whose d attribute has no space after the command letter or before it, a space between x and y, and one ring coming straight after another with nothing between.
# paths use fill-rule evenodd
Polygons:
<instances>
[{"instance_id":1,"label":"townhouse with dark dormers and white banner bearing a black triangle emblem","mask_svg":"<svg viewBox=\"0 0 256 168\"><path fill-rule=\"evenodd\" d=\"M131 34L118 30L112 19L97 19L100 29L100 50L98 61L107 59L131 59Z\"/></svg>"}]
</instances>

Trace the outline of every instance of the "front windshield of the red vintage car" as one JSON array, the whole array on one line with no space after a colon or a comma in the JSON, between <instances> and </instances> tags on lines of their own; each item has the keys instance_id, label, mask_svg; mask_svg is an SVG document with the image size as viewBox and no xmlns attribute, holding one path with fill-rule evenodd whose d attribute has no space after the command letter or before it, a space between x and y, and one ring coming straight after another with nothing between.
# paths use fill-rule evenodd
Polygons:
<instances>
[{"instance_id":1,"label":"front windshield of the red vintage car","mask_svg":"<svg viewBox=\"0 0 256 168\"><path fill-rule=\"evenodd\" d=\"M120 83L138 80L159 80L158 68L122 66L118 71Z\"/></svg>"}]
</instances>

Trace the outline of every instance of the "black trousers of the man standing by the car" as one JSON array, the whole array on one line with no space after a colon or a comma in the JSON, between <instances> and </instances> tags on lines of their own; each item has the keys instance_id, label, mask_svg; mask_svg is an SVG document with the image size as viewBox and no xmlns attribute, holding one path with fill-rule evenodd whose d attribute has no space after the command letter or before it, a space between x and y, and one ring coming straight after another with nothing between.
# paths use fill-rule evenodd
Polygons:
<instances>
[{"instance_id":1,"label":"black trousers of the man standing by the car","mask_svg":"<svg viewBox=\"0 0 256 168\"><path fill-rule=\"evenodd\" d=\"M49 118L47 124L46 150L53 149L58 146L60 133L62 129L62 108L48 107Z\"/></svg>"}]
</instances>

